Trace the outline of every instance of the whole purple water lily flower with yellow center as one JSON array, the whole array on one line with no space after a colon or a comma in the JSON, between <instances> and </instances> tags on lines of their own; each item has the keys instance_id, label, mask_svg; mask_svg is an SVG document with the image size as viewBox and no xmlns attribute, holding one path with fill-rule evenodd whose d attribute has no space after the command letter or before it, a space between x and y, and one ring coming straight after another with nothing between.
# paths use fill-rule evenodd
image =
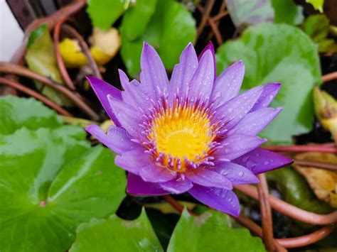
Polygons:
<instances>
[{"instance_id":1,"label":"whole purple water lily flower with yellow center","mask_svg":"<svg viewBox=\"0 0 337 252\"><path fill-rule=\"evenodd\" d=\"M256 183L256 174L291 163L259 148L266 140L256 136L281 111L268 107L280 84L239 94L244 72L238 61L216 77L213 45L197 57L190 43L169 80L156 50L144 43L140 82L119 70L120 91L88 77L115 126L87 131L118 154L130 195L189 192L237 216L232 185Z\"/></svg>"}]
</instances>

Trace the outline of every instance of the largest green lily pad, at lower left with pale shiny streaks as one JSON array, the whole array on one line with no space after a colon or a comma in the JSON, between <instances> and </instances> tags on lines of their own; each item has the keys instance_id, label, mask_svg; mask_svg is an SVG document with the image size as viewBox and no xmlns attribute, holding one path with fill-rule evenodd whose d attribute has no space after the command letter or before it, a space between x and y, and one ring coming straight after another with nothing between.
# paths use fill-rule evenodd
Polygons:
<instances>
[{"instance_id":1,"label":"largest green lily pad, at lower left with pale shiny streaks","mask_svg":"<svg viewBox=\"0 0 337 252\"><path fill-rule=\"evenodd\" d=\"M66 251L80 223L119 207L125 174L85 136L77 126L0 136L1 251Z\"/></svg>"}]
</instances>

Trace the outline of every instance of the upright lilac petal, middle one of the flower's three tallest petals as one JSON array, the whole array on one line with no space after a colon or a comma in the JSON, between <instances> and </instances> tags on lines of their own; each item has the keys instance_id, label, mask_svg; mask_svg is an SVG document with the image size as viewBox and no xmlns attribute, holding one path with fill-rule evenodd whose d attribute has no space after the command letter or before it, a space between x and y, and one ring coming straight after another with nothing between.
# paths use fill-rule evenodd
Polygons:
<instances>
[{"instance_id":1,"label":"upright lilac petal, middle one of the flower's three tallest petals","mask_svg":"<svg viewBox=\"0 0 337 252\"><path fill-rule=\"evenodd\" d=\"M169 84L169 102L173 102L176 92L186 94L188 84L191 82L194 72L198 67L198 57L192 43L188 43L180 56L179 64L175 65Z\"/></svg>"}]
</instances>

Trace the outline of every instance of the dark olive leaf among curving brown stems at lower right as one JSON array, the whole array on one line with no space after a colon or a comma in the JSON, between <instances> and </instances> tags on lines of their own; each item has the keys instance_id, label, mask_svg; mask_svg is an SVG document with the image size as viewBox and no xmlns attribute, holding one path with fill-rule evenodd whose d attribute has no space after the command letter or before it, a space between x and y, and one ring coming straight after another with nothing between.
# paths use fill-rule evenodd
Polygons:
<instances>
[{"instance_id":1,"label":"dark olive leaf among curving brown stems at lower right","mask_svg":"<svg viewBox=\"0 0 337 252\"><path fill-rule=\"evenodd\" d=\"M328 214L332 211L328 204L317 199L304 177L294 168L272 170L266 175L269 182L276 182L286 202L317 214Z\"/></svg>"}]
</instances>

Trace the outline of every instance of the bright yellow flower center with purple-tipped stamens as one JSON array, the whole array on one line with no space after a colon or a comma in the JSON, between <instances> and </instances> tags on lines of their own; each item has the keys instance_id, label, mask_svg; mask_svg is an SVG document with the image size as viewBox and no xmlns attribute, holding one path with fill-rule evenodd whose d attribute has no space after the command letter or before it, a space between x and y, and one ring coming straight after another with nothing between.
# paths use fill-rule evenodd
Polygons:
<instances>
[{"instance_id":1,"label":"bright yellow flower center with purple-tipped stamens","mask_svg":"<svg viewBox=\"0 0 337 252\"><path fill-rule=\"evenodd\" d=\"M162 108L153 118L147 138L159 165L185 172L209 162L215 133L208 109L186 102Z\"/></svg>"}]
</instances>

